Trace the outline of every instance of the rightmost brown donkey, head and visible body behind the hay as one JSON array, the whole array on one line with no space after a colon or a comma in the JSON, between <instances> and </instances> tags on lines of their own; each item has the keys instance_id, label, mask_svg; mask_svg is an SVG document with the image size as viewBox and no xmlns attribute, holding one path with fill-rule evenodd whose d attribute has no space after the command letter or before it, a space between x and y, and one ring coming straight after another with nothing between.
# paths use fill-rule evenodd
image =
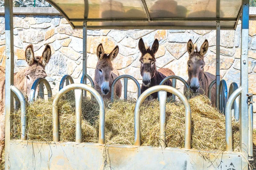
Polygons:
<instances>
[{"instance_id":1,"label":"rightmost brown donkey, head and visible body behind the hay","mask_svg":"<svg viewBox=\"0 0 256 170\"><path fill-rule=\"evenodd\" d=\"M204 72L204 55L206 54L209 47L207 40L201 46L200 51L194 46L192 40L190 39L187 43L187 51L189 53L188 64L188 74L189 79L187 83L189 84L189 89L193 93L199 93L201 95L208 94L208 87L213 80L215 80L215 75L209 72ZM215 107L215 85L212 87L212 106ZM186 87L184 87L184 92Z\"/></svg>"}]
</instances>

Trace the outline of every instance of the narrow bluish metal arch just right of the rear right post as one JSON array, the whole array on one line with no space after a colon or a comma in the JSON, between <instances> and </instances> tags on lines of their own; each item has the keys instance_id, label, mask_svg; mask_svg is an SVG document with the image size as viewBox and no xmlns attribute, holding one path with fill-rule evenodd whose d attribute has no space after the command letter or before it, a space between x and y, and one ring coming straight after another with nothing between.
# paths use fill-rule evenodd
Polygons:
<instances>
[{"instance_id":1,"label":"narrow bluish metal arch just right of the rear right post","mask_svg":"<svg viewBox=\"0 0 256 170\"><path fill-rule=\"evenodd\" d=\"M224 79L220 81L219 102L219 110L225 113L227 104L227 83Z\"/></svg>"}]
</instances>

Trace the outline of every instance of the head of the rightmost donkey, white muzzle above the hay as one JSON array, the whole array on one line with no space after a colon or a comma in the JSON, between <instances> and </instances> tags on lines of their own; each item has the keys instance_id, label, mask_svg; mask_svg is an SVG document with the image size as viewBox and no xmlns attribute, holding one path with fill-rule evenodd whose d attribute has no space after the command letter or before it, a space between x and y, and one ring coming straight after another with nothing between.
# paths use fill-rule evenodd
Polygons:
<instances>
[{"instance_id":1,"label":"head of the rightmost donkey, white muzzle above the hay","mask_svg":"<svg viewBox=\"0 0 256 170\"><path fill-rule=\"evenodd\" d=\"M207 40L201 46L200 51L194 46L190 39L187 43L187 51L189 53L188 61L188 74L189 74L189 89L192 92L198 92L200 89L200 81L204 75L204 55L206 54L209 47Z\"/></svg>"}]
</instances>

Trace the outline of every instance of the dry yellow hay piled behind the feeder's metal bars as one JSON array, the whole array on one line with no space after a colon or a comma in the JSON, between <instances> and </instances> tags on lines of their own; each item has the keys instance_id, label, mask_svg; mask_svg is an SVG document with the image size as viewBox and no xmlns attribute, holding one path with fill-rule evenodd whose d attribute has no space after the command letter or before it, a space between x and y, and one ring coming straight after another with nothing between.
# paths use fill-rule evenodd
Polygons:
<instances>
[{"instance_id":1,"label":"dry yellow hay piled behind the feeder's metal bars","mask_svg":"<svg viewBox=\"0 0 256 170\"><path fill-rule=\"evenodd\" d=\"M116 100L105 103L106 144L134 144L135 101ZM204 95L189 99L192 110L191 147L198 150L226 149L225 117L211 107ZM141 145L159 146L159 102L141 106ZM75 98L73 92L58 103L60 141L75 141ZM82 142L99 139L99 106L82 98ZM32 141L52 141L52 99L38 99L27 108L27 136ZM12 133L20 138L20 111L14 113ZM184 147L185 108L182 103L166 104L166 147ZM233 121L233 148L238 151L239 123Z\"/></svg>"}]
</instances>

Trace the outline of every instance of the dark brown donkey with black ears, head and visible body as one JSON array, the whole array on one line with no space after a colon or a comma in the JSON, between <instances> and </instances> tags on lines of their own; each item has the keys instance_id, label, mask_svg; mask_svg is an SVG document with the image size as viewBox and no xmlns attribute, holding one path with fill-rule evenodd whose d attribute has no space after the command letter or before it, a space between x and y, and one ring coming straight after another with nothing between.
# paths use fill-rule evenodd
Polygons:
<instances>
[{"instance_id":1,"label":"dark brown donkey with black ears, head and visible body","mask_svg":"<svg viewBox=\"0 0 256 170\"><path fill-rule=\"evenodd\" d=\"M145 48L145 44L143 39L140 38L139 41L139 49L141 52L140 57L140 75L142 76L142 86L141 93L143 93L146 89L159 85L160 82L170 75L175 75L174 72L170 69L158 69L156 66L156 58L155 54L157 52L159 43L158 40L155 39L151 49L148 47ZM164 85L172 86L172 81L166 81ZM167 97L169 97L171 93L167 93ZM151 94L151 98L157 98L157 92Z\"/></svg>"}]
</instances>

